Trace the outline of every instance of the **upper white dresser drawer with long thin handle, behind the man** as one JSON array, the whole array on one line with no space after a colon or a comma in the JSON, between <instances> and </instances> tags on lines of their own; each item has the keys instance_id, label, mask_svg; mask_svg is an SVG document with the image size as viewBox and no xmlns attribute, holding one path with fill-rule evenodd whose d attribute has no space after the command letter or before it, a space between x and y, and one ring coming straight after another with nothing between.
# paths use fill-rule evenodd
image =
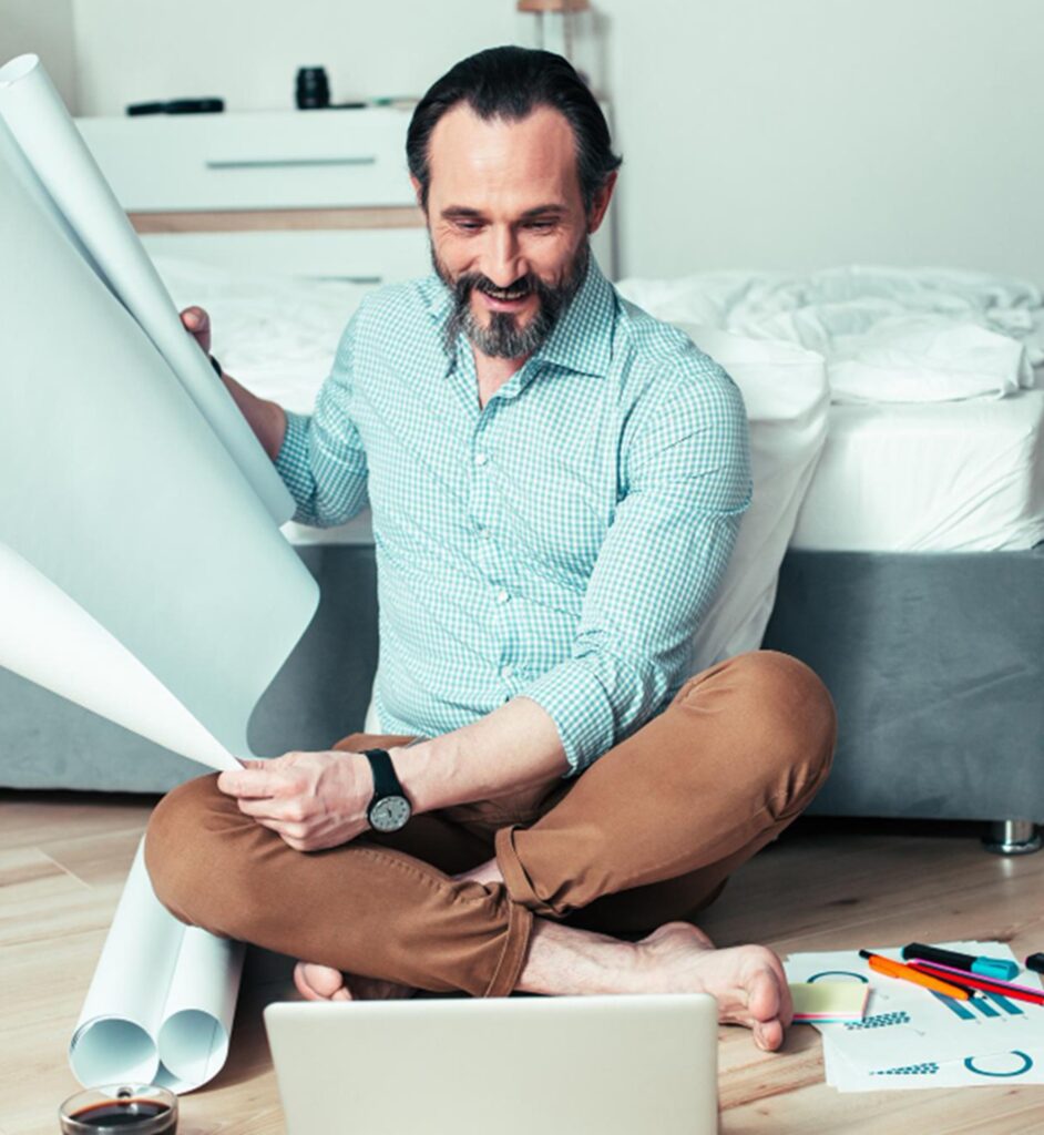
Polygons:
<instances>
[{"instance_id":1,"label":"upper white dresser drawer with long thin handle, behind the man","mask_svg":"<svg viewBox=\"0 0 1044 1135\"><path fill-rule=\"evenodd\" d=\"M130 212L411 205L410 112L392 108L82 118Z\"/></svg>"}]
</instances>

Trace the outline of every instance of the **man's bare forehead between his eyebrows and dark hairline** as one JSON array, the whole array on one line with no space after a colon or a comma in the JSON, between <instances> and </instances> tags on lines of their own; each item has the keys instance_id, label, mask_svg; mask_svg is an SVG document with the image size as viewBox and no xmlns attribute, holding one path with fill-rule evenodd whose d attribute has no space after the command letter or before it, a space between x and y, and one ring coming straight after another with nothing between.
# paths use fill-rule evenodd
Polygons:
<instances>
[{"instance_id":1,"label":"man's bare forehead between his eyebrows and dark hairline","mask_svg":"<svg viewBox=\"0 0 1044 1135\"><path fill-rule=\"evenodd\" d=\"M573 129L552 107L521 119L483 119L460 103L431 132L428 162L430 192L440 202L466 205L505 195L570 201L580 192Z\"/></svg>"}]
</instances>

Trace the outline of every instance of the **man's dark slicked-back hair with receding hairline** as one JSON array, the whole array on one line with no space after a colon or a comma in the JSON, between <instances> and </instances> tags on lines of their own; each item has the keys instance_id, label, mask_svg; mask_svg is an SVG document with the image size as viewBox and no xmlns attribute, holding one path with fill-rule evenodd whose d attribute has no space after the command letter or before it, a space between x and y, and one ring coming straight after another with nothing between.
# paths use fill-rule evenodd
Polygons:
<instances>
[{"instance_id":1,"label":"man's dark slicked-back hair with receding hairline","mask_svg":"<svg viewBox=\"0 0 1044 1135\"><path fill-rule=\"evenodd\" d=\"M436 124L457 103L466 102L479 118L516 121L537 107L565 116L576 138L576 171L586 209L606 178L621 163L612 150L601 108L572 64L552 51L531 48L489 48L452 67L416 104L406 133L410 173L420 182L421 204L428 208L431 169L428 145Z\"/></svg>"}]
</instances>

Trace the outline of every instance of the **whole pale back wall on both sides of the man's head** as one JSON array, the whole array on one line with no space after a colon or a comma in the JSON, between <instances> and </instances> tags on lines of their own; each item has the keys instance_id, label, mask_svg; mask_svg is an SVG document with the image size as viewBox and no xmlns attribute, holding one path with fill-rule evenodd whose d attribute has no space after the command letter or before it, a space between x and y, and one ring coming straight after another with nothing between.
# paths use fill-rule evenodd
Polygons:
<instances>
[{"instance_id":1,"label":"whole pale back wall on both sides of the man's head","mask_svg":"<svg viewBox=\"0 0 1044 1135\"><path fill-rule=\"evenodd\" d=\"M74 2L84 114L287 107L302 65L335 100L419 93L519 27L514 0ZM1044 284L1041 0L593 2L625 272L942 263Z\"/></svg>"}]
</instances>

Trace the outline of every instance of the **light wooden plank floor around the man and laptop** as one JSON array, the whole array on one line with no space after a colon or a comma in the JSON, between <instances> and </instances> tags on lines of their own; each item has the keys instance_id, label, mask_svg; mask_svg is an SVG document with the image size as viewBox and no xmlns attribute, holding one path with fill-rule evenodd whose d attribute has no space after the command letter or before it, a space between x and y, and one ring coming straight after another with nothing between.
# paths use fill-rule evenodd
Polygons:
<instances>
[{"instance_id":1,"label":"light wooden plank floor around the man and laptop","mask_svg":"<svg viewBox=\"0 0 1044 1135\"><path fill-rule=\"evenodd\" d=\"M53 1135L77 1090L66 1045L152 802L0 792L0 1135ZM986 855L970 826L802 821L733 878L705 927L784 953L978 938L1024 957L1044 949L1042 899L1044 852ZM183 1135L283 1130L260 1014L292 989L287 959L250 956L228 1063L182 1099ZM724 1028L719 1051L727 1135L1044 1132L1044 1087L839 1095L807 1027L781 1054Z\"/></svg>"}]
</instances>

